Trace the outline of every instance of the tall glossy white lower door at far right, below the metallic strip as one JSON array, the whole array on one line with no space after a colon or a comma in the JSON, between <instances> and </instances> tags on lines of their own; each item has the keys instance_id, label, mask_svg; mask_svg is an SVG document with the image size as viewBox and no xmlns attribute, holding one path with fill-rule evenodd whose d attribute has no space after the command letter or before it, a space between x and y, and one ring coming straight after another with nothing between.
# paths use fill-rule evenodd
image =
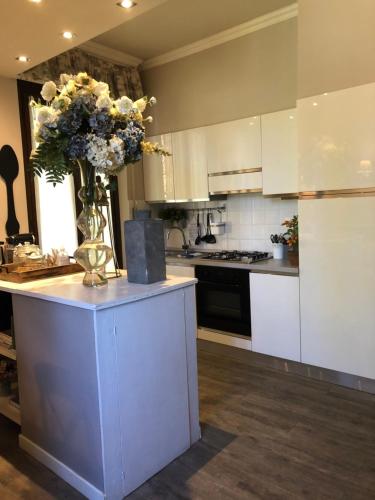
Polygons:
<instances>
[{"instance_id":1,"label":"tall glossy white lower door at far right, below the metallic strip","mask_svg":"<svg viewBox=\"0 0 375 500\"><path fill-rule=\"evenodd\" d=\"M375 379L375 197L298 214L302 361Z\"/></svg>"}]
</instances>

